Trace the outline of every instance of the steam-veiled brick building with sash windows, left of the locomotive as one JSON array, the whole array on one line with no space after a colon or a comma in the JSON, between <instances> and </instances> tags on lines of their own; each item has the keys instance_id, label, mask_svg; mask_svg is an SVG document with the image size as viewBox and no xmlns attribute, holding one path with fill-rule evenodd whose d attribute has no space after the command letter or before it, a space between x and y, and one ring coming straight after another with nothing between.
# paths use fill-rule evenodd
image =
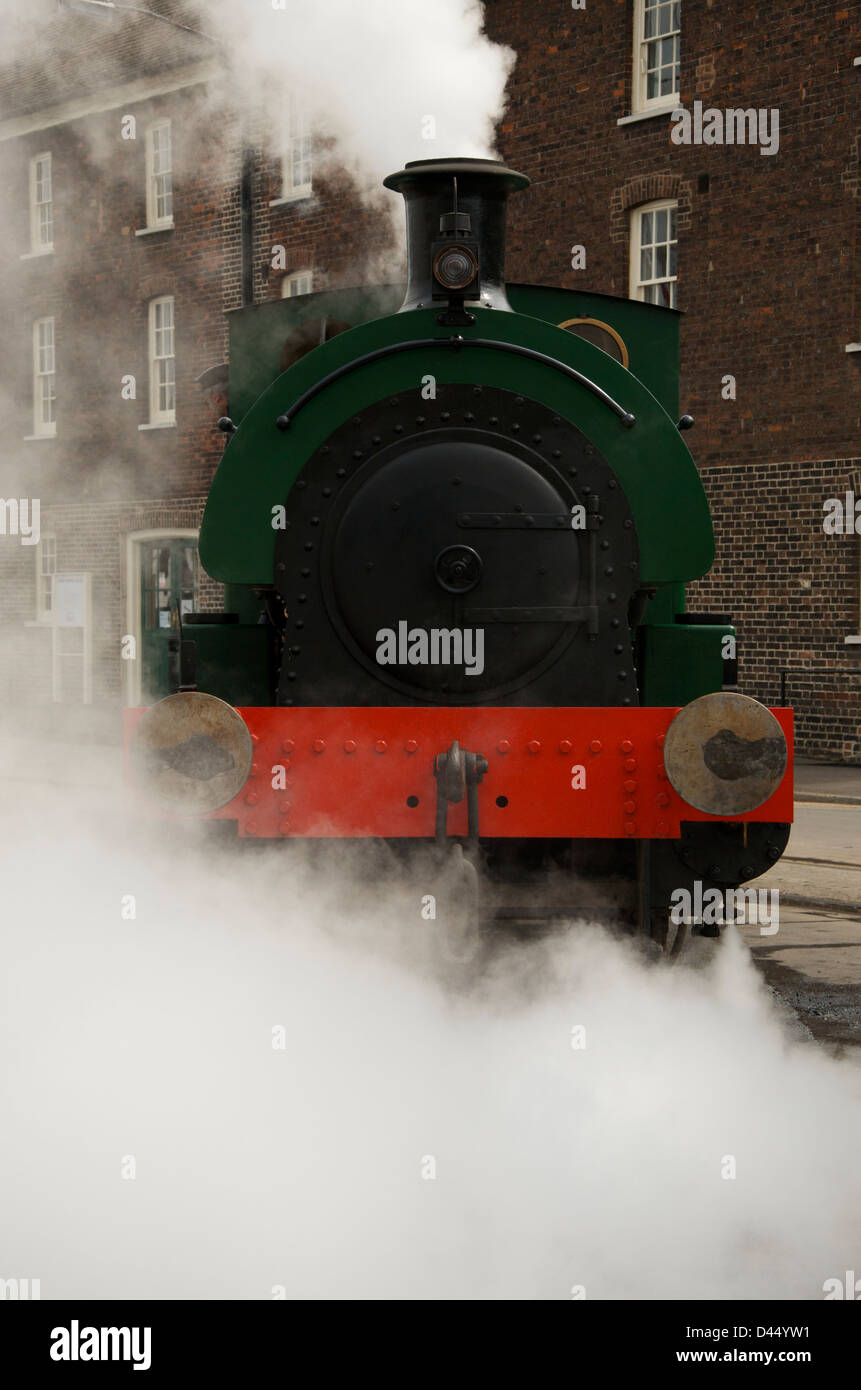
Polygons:
<instances>
[{"instance_id":1,"label":"steam-veiled brick building with sash windows, left of the locomotive","mask_svg":"<svg viewBox=\"0 0 861 1390\"><path fill-rule=\"evenodd\" d=\"M339 285L388 229L346 174L314 170L295 106L275 139L231 107L196 7L43 8L0 72L0 701L134 703L167 692L175 606L221 606L196 538L225 314ZM32 546L11 534L31 499ZM142 659L122 660L129 635Z\"/></svg>"}]
</instances>

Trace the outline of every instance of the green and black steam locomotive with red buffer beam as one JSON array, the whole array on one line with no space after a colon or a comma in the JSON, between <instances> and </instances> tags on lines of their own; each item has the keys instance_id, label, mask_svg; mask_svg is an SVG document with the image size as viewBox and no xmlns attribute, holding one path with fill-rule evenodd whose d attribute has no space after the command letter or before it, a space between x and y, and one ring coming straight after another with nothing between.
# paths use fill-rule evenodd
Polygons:
<instances>
[{"instance_id":1,"label":"green and black steam locomotive with red buffer beam","mask_svg":"<svg viewBox=\"0 0 861 1390\"><path fill-rule=\"evenodd\" d=\"M506 285L527 185L408 164L385 179L399 306L377 286L231 316L200 534L225 612L182 620L175 694L128 712L129 756L168 813L239 837L430 847L458 940L491 929L487 885L552 865L566 910L613 878L673 951L675 890L786 847L791 712L739 694L729 616L686 610L714 537L679 316Z\"/></svg>"}]
</instances>

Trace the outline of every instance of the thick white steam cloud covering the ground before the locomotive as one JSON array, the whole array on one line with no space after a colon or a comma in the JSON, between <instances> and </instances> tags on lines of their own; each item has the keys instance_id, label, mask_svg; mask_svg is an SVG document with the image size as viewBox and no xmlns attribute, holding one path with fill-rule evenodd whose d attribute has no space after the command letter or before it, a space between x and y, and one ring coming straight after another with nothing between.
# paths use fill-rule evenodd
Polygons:
<instances>
[{"instance_id":1,"label":"thick white steam cloud covering the ground before the locomotive","mask_svg":"<svg viewBox=\"0 0 861 1390\"><path fill-rule=\"evenodd\" d=\"M452 990L412 949L426 883L189 849L68 788L4 802L1 1275L821 1298L858 1268L858 1068L790 1038L740 942L655 969L581 923Z\"/></svg>"}]
</instances>

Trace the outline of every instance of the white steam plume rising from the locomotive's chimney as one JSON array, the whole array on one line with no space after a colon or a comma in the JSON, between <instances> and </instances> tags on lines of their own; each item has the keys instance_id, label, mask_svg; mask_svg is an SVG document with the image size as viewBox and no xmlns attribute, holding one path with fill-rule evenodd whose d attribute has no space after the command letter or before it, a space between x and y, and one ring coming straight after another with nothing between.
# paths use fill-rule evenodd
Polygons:
<instances>
[{"instance_id":1,"label":"white steam plume rising from the locomotive's chimney","mask_svg":"<svg viewBox=\"0 0 861 1390\"><path fill-rule=\"evenodd\" d=\"M494 154L515 53L483 33L474 0L217 0L204 18L231 54L231 97L263 107L273 143L296 93L367 190L406 160Z\"/></svg>"}]
</instances>

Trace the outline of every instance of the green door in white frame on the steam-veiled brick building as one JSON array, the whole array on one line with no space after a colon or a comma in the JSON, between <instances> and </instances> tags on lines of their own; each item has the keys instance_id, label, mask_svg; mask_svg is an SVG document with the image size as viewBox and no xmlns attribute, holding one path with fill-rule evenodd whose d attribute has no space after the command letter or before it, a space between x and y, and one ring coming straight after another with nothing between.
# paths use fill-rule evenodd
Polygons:
<instances>
[{"instance_id":1,"label":"green door in white frame on the steam-veiled brick building","mask_svg":"<svg viewBox=\"0 0 861 1390\"><path fill-rule=\"evenodd\" d=\"M140 699L152 705L178 685L179 620L195 610L198 543L185 539L140 542Z\"/></svg>"}]
</instances>

